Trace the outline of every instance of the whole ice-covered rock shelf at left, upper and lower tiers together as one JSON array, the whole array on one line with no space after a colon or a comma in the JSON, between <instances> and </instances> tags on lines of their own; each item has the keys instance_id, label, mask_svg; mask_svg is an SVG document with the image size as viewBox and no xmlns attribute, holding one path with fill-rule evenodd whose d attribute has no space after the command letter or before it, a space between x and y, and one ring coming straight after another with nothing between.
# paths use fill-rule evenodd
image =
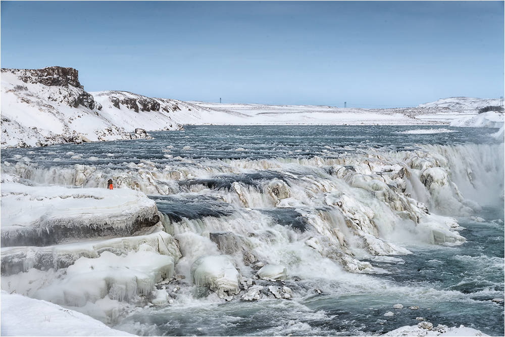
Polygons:
<instances>
[{"instance_id":1,"label":"whole ice-covered rock shelf at left, upper and lower tiers together","mask_svg":"<svg viewBox=\"0 0 505 337\"><path fill-rule=\"evenodd\" d=\"M174 276L177 242L140 192L2 180L4 290L110 323Z\"/></svg>"}]
</instances>

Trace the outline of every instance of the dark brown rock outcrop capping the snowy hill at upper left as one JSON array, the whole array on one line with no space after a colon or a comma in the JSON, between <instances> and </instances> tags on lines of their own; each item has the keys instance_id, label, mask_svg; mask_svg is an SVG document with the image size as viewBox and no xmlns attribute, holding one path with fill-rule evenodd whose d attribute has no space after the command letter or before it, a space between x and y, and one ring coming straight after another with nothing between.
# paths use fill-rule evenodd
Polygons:
<instances>
[{"instance_id":1,"label":"dark brown rock outcrop capping the snowy hill at upper left","mask_svg":"<svg viewBox=\"0 0 505 337\"><path fill-rule=\"evenodd\" d=\"M72 85L84 89L79 83L78 71L74 68L47 67L42 69L2 69L2 72L21 72L21 80L25 83L41 83L44 85Z\"/></svg>"}]
</instances>

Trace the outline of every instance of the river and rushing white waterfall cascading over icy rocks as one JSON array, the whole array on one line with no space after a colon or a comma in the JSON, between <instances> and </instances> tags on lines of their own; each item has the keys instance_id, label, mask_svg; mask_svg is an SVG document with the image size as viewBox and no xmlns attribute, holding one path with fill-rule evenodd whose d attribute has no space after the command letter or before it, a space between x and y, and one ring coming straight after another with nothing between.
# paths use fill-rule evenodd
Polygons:
<instances>
[{"instance_id":1,"label":"river and rushing white waterfall cascading over icy rocks","mask_svg":"<svg viewBox=\"0 0 505 337\"><path fill-rule=\"evenodd\" d=\"M191 127L3 151L1 168L3 179L35 185L105 187L112 178L156 201L178 242L178 278L139 292L158 306L123 321L131 307L115 309L112 322L129 332L370 334L424 315L496 333L503 143L478 129L412 129ZM264 265L275 272L256 276ZM383 316L400 301L420 309ZM484 316L493 326L478 325Z\"/></svg>"}]
</instances>

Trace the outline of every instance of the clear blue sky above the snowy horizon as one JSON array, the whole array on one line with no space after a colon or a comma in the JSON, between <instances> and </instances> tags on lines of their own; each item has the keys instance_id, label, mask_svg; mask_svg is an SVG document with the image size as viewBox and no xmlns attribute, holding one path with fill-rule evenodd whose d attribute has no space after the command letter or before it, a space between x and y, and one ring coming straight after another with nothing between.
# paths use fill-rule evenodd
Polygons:
<instances>
[{"instance_id":1,"label":"clear blue sky above the snowy horizon","mask_svg":"<svg viewBox=\"0 0 505 337\"><path fill-rule=\"evenodd\" d=\"M2 1L0 65L182 101L412 107L504 95L503 1Z\"/></svg>"}]
</instances>

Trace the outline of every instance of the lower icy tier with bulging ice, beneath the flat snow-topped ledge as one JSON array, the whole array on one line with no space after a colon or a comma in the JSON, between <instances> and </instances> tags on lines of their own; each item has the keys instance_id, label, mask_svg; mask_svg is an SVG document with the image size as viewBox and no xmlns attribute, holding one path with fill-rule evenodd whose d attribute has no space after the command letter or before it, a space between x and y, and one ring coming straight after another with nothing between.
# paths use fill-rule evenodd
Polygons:
<instances>
[{"instance_id":1,"label":"lower icy tier with bulging ice, beneath the flat snow-topped ledge","mask_svg":"<svg viewBox=\"0 0 505 337\"><path fill-rule=\"evenodd\" d=\"M181 257L161 223L131 237L51 247L3 247L2 289L111 323L145 305Z\"/></svg>"}]
</instances>

